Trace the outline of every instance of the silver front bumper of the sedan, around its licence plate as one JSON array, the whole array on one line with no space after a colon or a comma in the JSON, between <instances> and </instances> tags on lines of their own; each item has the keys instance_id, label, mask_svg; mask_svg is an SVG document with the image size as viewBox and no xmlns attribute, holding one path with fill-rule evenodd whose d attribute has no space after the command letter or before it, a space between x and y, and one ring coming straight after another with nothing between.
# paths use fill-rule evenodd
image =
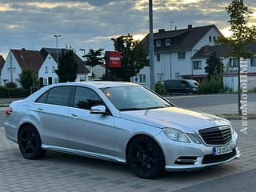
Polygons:
<instances>
[{"instance_id":1,"label":"silver front bumper of the sedan, around its licence plate","mask_svg":"<svg viewBox=\"0 0 256 192\"><path fill-rule=\"evenodd\" d=\"M234 132L231 141L226 146L231 146L233 152L230 154L213 155L214 146L206 146L205 144L195 144L186 142L174 142L166 137L166 134L157 135L159 144L162 147L166 160L166 170L198 170L206 166L214 166L225 162L230 162L241 156L237 147L238 134ZM180 158L193 158L194 162L178 163Z\"/></svg>"}]
</instances>

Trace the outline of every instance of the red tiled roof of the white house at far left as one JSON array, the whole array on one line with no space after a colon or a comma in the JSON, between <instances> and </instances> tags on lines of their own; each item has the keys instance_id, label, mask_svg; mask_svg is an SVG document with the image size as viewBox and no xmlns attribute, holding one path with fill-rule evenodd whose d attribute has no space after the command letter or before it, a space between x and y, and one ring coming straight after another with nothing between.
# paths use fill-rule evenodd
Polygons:
<instances>
[{"instance_id":1,"label":"red tiled roof of the white house at far left","mask_svg":"<svg viewBox=\"0 0 256 192\"><path fill-rule=\"evenodd\" d=\"M38 73L43 58L38 50L11 50L22 70L33 70Z\"/></svg>"}]
</instances>

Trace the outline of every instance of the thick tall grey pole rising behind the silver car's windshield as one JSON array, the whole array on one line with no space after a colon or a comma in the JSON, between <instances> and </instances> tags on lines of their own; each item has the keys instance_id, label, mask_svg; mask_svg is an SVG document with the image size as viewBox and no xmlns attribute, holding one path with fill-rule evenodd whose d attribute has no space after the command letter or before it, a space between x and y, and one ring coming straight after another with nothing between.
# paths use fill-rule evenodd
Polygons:
<instances>
[{"instance_id":1,"label":"thick tall grey pole rising behind the silver car's windshield","mask_svg":"<svg viewBox=\"0 0 256 192\"><path fill-rule=\"evenodd\" d=\"M149 0L150 17L150 89L154 90L154 33L153 33L153 0Z\"/></svg>"}]
</instances>

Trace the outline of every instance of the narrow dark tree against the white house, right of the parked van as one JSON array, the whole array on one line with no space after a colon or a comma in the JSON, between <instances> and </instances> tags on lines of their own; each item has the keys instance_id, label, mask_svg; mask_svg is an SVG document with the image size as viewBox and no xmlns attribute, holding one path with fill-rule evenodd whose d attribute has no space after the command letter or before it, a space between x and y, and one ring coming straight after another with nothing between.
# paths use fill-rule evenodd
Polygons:
<instances>
[{"instance_id":1,"label":"narrow dark tree against the white house, right of the parked van","mask_svg":"<svg viewBox=\"0 0 256 192\"><path fill-rule=\"evenodd\" d=\"M218 79L219 88L222 87L222 74L223 74L223 63L220 58L217 57L216 52L214 51L209 55L206 60L205 71L207 74L208 80L210 78Z\"/></svg>"}]
</instances>

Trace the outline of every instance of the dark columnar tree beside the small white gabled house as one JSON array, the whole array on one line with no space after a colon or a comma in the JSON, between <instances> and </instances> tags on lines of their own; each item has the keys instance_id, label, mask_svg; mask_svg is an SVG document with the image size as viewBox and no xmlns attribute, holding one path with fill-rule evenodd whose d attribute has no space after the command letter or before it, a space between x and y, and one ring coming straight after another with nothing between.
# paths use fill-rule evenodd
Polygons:
<instances>
[{"instance_id":1,"label":"dark columnar tree beside the small white gabled house","mask_svg":"<svg viewBox=\"0 0 256 192\"><path fill-rule=\"evenodd\" d=\"M58 70L55 70L58 82L74 82L78 74L78 63L78 58L71 47L63 49L58 59Z\"/></svg>"}]
</instances>

